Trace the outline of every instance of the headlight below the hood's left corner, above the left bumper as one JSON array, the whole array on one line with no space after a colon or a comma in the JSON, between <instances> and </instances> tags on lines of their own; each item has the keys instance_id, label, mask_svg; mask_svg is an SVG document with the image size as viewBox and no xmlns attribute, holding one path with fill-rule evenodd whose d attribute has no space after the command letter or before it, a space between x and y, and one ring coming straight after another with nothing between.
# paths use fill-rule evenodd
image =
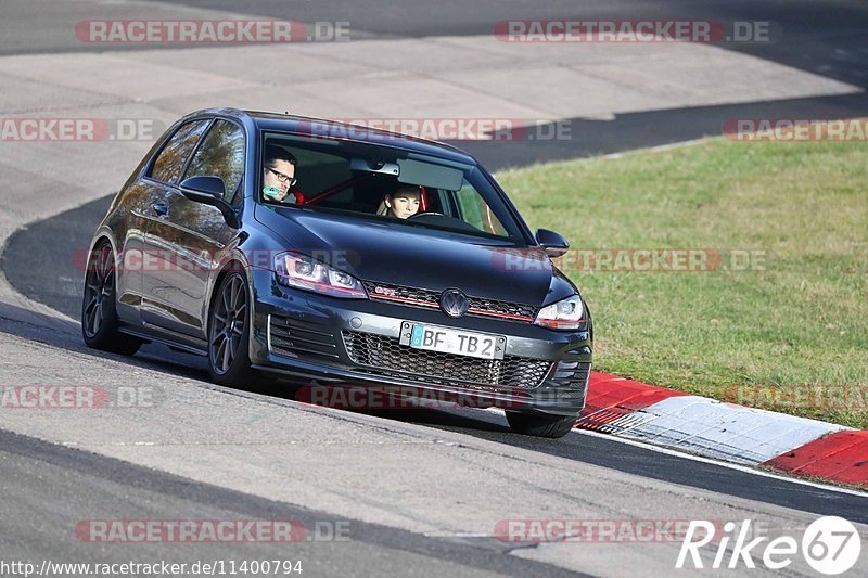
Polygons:
<instances>
[{"instance_id":1,"label":"headlight below the hood's left corner, above the left bumper","mask_svg":"<svg viewBox=\"0 0 868 578\"><path fill-rule=\"evenodd\" d=\"M294 251L275 256L275 272L278 282L290 287L332 297L368 298L365 287L355 277Z\"/></svg>"}]
</instances>

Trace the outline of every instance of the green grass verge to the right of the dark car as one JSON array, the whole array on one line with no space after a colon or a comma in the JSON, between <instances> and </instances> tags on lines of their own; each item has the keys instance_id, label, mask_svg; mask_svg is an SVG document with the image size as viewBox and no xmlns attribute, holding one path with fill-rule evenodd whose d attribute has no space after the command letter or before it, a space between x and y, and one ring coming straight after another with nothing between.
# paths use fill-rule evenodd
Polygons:
<instances>
[{"instance_id":1,"label":"green grass verge to the right of the dark car","mask_svg":"<svg viewBox=\"0 0 868 578\"><path fill-rule=\"evenodd\" d=\"M574 248L765 255L739 271L565 262L593 313L596 369L868 427L868 144L709 140L498 181Z\"/></svg>"}]
</instances>

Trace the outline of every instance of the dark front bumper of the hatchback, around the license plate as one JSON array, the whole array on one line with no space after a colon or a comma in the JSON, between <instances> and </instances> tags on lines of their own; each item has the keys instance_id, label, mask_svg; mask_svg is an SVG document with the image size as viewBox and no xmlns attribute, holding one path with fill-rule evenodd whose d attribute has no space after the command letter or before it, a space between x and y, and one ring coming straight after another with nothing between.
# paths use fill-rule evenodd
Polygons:
<instances>
[{"instance_id":1,"label":"dark front bumper of the hatchback, around the license plate","mask_svg":"<svg viewBox=\"0 0 868 578\"><path fill-rule=\"evenodd\" d=\"M577 414L585 406L592 344L588 332L463 317L367 299L295 291L257 272L251 361L307 384L413 387L518 411ZM435 354L399 345L404 322L502 335L503 360Z\"/></svg>"}]
</instances>

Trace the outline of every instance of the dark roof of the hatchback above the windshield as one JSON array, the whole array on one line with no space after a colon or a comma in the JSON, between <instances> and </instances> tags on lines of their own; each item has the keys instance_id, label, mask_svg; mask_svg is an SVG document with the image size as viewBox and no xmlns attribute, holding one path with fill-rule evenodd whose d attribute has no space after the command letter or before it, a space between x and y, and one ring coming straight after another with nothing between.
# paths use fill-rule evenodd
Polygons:
<instances>
[{"instance_id":1,"label":"dark roof of the hatchback above the windshield","mask_svg":"<svg viewBox=\"0 0 868 578\"><path fill-rule=\"evenodd\" d=\"M239 108L207 108L188 116L224 115L251 119L261 130L307 133L317 138L366 142L387 146L397 146L420 154L445 157L459 163L476 164L467 152L444 142L409 137L398 132L381 130L339 120L298 116L291 114L269 113L263 111L242 111ZM316 131L316 132L315 132Z\"/></svg>"}]
</instances>

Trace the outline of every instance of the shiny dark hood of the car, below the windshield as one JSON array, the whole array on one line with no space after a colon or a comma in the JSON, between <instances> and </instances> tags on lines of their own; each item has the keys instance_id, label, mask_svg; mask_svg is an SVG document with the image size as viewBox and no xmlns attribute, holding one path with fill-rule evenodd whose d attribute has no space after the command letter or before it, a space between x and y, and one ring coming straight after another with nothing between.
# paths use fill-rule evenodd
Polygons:
<instances>
[{"instance_id":1,"label":"shiny dark hood of the car, below the windshield","mask_svg":"<svg viewBox=\"0 0 868 578\"><path fill-rule=\"evenodd\" d=\"M493 246L487 239L460 233L302 208L256 205L255 218L286 248L363 281L459 288L474 297L535 306L576 293L539 246Z\"/></svg>"}]
</instances>

